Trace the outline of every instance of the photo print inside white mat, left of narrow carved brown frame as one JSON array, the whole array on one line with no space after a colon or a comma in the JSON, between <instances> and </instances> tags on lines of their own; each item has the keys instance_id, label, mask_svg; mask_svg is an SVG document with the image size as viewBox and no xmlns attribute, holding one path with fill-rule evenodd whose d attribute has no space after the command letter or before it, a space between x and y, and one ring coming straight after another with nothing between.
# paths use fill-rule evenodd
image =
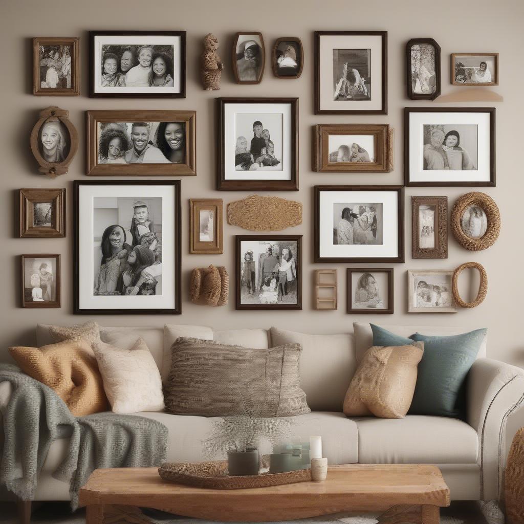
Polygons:
<instances>
[{"instance_id":1,"label":"photo print inside white mat, left of narrow carved brown frame","mask_svg":"<svg viewBox=\"0 0 524 524\"><path fill-rule=\"evenodd\" d=\"M333 245L381 245L382 203L333 204Z\"/></svg>"}]
</instances>

